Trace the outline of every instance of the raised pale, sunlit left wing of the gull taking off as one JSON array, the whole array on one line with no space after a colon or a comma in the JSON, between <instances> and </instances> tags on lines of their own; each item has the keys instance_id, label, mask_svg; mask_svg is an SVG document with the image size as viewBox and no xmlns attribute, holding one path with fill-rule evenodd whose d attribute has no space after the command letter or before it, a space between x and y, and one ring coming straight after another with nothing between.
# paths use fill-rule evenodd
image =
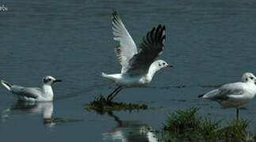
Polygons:
<instances>
[{"instance_id":1,"label":"raised pale, sunlit left wing of the gull taking off","mask_svg":"<svg viewBox=\"0 0 256 142\"><path fill-rule=\"evenodd\" d=\"M117 58L120 60L120 64L122 65L121 73L125 73L128 69L129 60L134 54L137 54L137 48L129 32L124 27L123 22L120 20L117 12L113 12L112 20L114 40L120 42L120 46L117 46L115 50Z\"/></svg>"}]
</instances>

